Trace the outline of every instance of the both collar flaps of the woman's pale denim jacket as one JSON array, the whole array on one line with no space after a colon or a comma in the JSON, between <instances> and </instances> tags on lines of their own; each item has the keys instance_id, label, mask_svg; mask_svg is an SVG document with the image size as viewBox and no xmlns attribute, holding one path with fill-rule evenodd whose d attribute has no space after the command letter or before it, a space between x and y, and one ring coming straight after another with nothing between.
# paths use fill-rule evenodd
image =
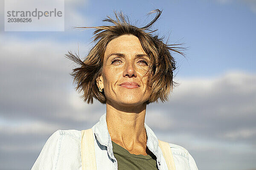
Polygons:
<instances>
[{"instance_id":1,"label":"both collar flaps of the woman's pale denim jacket","mask_svg":"<svg viewBox=\"0 0 256 170\"><path fill-rule=\"evenodd\" d=\"M107 115L106 113L103 114L100 117L99 122L96 123L96 125L94 125L92 129L99 143L108 147L108 150L110 152L109 154L113 156L113 149L112 149L113 146L111 142L111 136L108 133L106 115ZM161 151L160 151L160 147L158 147L157 136L154 134L153 130L151 130L151 128L148 127L148 125L146 125L146 123L144 123L144 127L148 136L147 147L157 157L157 166L160 169Z\"/></svg>"}]
</instances>

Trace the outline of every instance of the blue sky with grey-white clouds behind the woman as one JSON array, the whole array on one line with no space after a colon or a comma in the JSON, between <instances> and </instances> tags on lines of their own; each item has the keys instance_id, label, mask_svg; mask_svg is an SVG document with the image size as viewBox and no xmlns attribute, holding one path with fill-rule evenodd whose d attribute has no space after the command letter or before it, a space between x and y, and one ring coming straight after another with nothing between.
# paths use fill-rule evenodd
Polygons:
<instances>
[{"instance_id":1,"label":"blue sky with grey-white clouds behind the woman","mask_svg":"<svg viewBox=\"0 0 256 170\"><path fill-rule=\"evenodd\" d=\"M169 102L148 105L147 124L189 150L200 170L256 169L255 0L65 0L63 32L4 31L0 6L0 170L31 168L56 130L90 128L105 113L73 88L64 54L79 44L85 57L93 30L72 26L101 26L113 10L145 26L156 8L159 36L189 48L186 58L174 54L180 86Z\"/></svg>"}]
</instances>

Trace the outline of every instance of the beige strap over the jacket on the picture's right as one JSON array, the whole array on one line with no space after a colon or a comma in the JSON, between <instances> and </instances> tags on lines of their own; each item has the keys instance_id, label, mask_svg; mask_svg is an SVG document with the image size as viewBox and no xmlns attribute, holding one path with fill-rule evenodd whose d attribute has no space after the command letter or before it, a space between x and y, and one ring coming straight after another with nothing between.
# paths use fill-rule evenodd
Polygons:
<instances>
[{"instance_id":1,"label":"beige strap over the jacket on the picture's right","mask_svg":"<svg viewBox=\"0 0 256 170\"><path fill-rule=\"evenodd\" d=\"M163 152L163 157L166 160L168 170L176 170L169 143L158 140L158 145Z\"/></svg>"}]
</instances>

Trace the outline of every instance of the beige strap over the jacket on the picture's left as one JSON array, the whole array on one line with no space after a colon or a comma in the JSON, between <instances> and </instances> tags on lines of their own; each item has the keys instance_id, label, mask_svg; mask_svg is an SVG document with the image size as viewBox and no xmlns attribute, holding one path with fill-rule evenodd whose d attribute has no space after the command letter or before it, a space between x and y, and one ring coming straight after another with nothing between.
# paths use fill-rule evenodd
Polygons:
<instances>
[{"instance_id":1,"label":"beige strap over the jacket on the picture's left","mask_svg":"<svg viewBox=\"0 0 256 170\"><path fill-rule=\"evenodd\" d=\"M96 170L93 130L81 130L81 162L82 170Z\"/></svg>"}]
</instances>

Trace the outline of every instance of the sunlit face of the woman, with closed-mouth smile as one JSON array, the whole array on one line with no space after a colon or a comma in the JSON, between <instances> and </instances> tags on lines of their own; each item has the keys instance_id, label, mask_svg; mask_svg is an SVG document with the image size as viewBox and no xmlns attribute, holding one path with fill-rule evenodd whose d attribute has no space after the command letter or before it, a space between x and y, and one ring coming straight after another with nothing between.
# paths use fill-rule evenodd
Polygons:
<instances>
[{"instance_id":1,"label":"sunlit face of the woman, with closed-mouth smile","mask_svg":"<svg viewBox=\"0 0 256 170\"><path fill-rule=\"evenodd\" d=\"M104 88L106 102L140 105L150 94L146 90L149 57L134 35L111 40L105 50L102 76L98 85ZM143 77L144 75L144 77Z\"/></svg>"}]
</instances>

